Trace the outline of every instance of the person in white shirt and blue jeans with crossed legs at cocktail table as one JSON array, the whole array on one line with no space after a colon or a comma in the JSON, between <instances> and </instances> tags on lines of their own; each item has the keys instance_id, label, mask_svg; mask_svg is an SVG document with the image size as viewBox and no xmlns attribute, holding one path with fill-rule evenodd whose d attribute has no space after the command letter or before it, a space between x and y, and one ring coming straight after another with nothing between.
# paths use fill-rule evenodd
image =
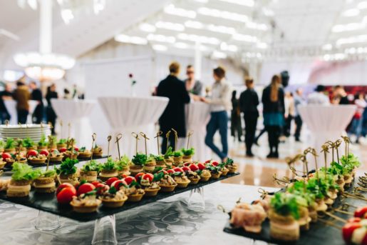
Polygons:
<instances>
[{"instance_id":1,"label":"person in white shirt and blue jeans with crossed legs at cocktail table","mask_svg":"<svg viewBox=\"0 0 367 245\"><path fill-rule=\"evenodd\" d=\"M207 135L205 144L214 151L222 161L226 161L228 155L228 114L232 109L231 93L232 88L225 79L225 70L218 66L213 70L214 84L212 86L212 95L209 98L201 100L210 104L210 121L207 124ZM219 130L222 141L222 151L215 146L213 142L214 134Z\"/></svg>"}]
</instances>

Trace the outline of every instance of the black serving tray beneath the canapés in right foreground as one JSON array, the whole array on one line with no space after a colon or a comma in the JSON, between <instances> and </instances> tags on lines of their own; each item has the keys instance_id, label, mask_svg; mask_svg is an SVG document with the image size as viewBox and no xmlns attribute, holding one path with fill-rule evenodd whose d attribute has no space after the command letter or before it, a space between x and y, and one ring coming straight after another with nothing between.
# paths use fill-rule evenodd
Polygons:
<instances>
[{"instance_id":1,"label":"black serving tray beneath the canap\u00e9s in right foreground","mask_svg":"<svg viewBox=\"0 0 367 245\"><path fill-rule=\"evenodd\" d=\"M346 189L347 192L351 193L353 190L353 185ZM281 189L280 191L284 191ZM338 196L336 201L333 204L333 207L336 208L338 206L341 206L341 204L351 204L352 206L366 206L366 201L363 201L361 199L353 199L351 197L343 198L341 199L341 196ZM354 209L349 207L349 212L353 213ZM351 218L351 215L348 214L342 214L340 212L333 212L334 215L341 217L342 219L349 219ZM341 221L336 221L332 219L329 216L324 216L322 219L327 221L334 221L334 224L338 226L343 226L343 223ZM244 231L242 228L237 228L229 224L229 221L224 226L224 232L227 232L229 234L235 234L238 236L245 236L250 239L254 240L261 240L266 241L271 244L281 244L281 245L288 245L288 244L294 244L294 245L326 245L326 244L333 244L333 245L343 245L345 244L343 240L343 236L341 234L341 229L337 229L334 226L329 226L324 224L321 221L317 221L316 223L310 223L310 229L309 231L300 231L300 236L298 241L292 241L292 242L286 242L286 241L279 241L276 239L272 239L270 237L270 222L269 219L266 219L262 223L262 231L259 234L254 234L251 232Z\"/></svg>"}]
</instances>

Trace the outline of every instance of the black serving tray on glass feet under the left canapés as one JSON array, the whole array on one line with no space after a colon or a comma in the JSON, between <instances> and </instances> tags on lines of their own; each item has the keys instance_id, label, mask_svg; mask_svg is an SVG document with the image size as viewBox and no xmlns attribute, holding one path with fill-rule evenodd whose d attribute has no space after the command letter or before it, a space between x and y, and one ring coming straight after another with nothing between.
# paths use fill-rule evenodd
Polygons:
<instances>
[{"instance_id":1,"label":"black serving tray on glass feet under the left canap\u00e9s","mask_svg":"<svg viewBox=\"0 0 367 245\"><path fill-rule=\"evenodd\" d=\"M14 197L7 197L6 191L0 192L0 199L4 201L10 201L15 204L21 204L24 206L29 206L33 209L38 209L41 211L46 211L52 214L56 214L59 216L64 216L69 219L74 219L76 221L93 221L95 219L100 219L104 216L113 215L120 213L121 211L125 211L128 209L133 209L138 206L143 206L145 204L150 204L154 201L158 201L160 199L165 199L169 196L174 196L176 194L180 194L185 191L190 191L195 188L199 188L202 186L206 186L208 184L213 184L217 181L222 181L223 179L228 179L233 176L237 176L239 173L234 174L227 174L227 176L221 176L219 179L210 179L207 182L199 182L195 185L189 185L187 188L178 189L176 187L175 191L172 192L159 192L157 196L144 196L141 201L138 202L128 202L126 201L125 204L117 209L108 209L103 207L103 205L100 206L98 211L91 214L81 214L73 211L72 207L70 205L60 205L58 204L56 200L55 193L52 194L40 194L36 193L35 191L31 191L29 196L27 197L21 197L21 198L14 198Z\"/></svg>"}]
</instances>

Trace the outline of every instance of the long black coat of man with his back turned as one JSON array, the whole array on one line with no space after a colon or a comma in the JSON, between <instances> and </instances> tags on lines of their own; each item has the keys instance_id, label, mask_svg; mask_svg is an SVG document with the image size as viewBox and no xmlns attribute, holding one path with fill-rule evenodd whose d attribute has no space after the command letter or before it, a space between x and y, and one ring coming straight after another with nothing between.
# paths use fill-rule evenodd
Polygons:
<instances>
[{"instance_id":1,"label":"long black coat of man with his back turned","mask_svg":"<svg viewBox=\"0 0 367 245\"><path fill-rule=\"evenodd\" d=\"M186 91L184 82L177 79L176 76L167 76L166 79L160 81L157 96L170 99L160 116L160 130L165 134L170 129L175 129L179 137L185 137L185 104L190 102L190 95Z\"/></svg>"}]
</instances>

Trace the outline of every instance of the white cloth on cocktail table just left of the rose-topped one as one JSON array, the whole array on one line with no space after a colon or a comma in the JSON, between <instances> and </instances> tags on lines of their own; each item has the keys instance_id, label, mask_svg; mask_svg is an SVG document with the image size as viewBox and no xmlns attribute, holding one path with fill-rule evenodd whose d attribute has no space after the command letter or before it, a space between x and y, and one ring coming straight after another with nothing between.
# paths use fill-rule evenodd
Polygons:
<instances>
[{"instance_id":1,"label":"white cloth on cocktail table just left of the rose-topped one","mask_svg":"<svg viewBox=\"0 0 367 245\"><path fill-rule=\"evenodd\" d=\"M76 139L78 146L92 146L92 126L88 119L96 101L93 100L71 100L71 99L51 99L53 110L58 116L56 129L62 138L68 137L68 124L71 124L70 136ZM60 120L63 121L63 128L60 127Z\"/></svg>"}]
</instances>

